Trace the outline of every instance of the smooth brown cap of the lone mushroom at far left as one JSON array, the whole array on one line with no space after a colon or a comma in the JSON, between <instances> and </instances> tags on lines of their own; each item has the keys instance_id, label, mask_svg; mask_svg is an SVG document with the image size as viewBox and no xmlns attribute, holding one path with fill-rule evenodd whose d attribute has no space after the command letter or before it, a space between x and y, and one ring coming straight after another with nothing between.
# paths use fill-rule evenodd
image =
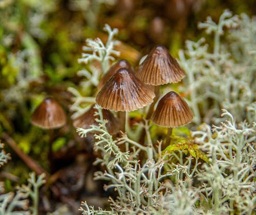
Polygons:
<instances>
[{"instance_id":1,"label":"smooth brown cap of the lone mushroom at far left","mask_svg":"<svg viewBox=\"0 0 256 215\"><path fill-rule=\"evenodd\" d=\"M41 102L31 116L30 122L38 127L50 129L66 124L66 114L53 98Z\"/></svg>"}]
</instances>

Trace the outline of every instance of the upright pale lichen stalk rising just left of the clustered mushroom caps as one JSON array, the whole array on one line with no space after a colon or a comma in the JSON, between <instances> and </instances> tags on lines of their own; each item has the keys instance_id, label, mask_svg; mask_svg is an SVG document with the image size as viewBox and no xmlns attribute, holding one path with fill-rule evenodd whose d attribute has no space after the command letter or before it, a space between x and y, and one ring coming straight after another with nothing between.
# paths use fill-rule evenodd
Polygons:
<instances>
[{"instance_id":1,"label":"upright pale lichen stalk rising just left of the clustered mushroom caps","mask_svg":"<svg viewBox=\"0 0 256 215\"><path fill-rule=\"evenodd\" d=\"M78 59L79 63L89 63L92 61L98 61L101 68L89 65L89 70L83 69L78 71L78 76L84 77L80 82L80 90L75 88L68 88L68 91L73 94L72 101L74 102L70 110L74 112L73 117L78 117L86 112L90 106L88 104L95 103L95 98L88 95L89 89L92 87L98 87L100 77L106 73L110 67L110 61L114 60L114 56L118 56L119 52L114 50L114 46L118 44L117 40L114 40L114 36L118 33L117 29L111 29L109 25L105 25L104 30L108 32L108 40L103 44L100 38L87 39L86 46L83 46L82 58ZM89 52L89 53L88 53ZM113 56L114 55L114 56Z\"/></svg>"}]
</instances>

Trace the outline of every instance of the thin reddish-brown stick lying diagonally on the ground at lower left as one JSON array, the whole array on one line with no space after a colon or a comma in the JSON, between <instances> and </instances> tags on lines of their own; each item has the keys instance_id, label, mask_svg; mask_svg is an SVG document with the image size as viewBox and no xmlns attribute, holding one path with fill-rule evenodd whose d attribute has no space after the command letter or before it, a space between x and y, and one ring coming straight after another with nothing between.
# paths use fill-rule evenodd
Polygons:
<instances>
[{"instance_id":1,"label":"thin reddish-brown stick lying diagonally on the ground at lower left","mask_svg":"<svg viewBox=\"0 0 256 215\"><path fill-rule=\"evenodd\" d=\"M41 166L39 166L34 159L32 159L28 155L26 155L18 147L17 143L7 133L3 133L3 138L11 146L11 148L14 150L14 152L27 164L27 166L30 169L35 171L35 173L37 175L41 175L42 173L45 173L46 177L48 178L47 171L45 169L43 169Z\"/></svg>"}]
</instances>

